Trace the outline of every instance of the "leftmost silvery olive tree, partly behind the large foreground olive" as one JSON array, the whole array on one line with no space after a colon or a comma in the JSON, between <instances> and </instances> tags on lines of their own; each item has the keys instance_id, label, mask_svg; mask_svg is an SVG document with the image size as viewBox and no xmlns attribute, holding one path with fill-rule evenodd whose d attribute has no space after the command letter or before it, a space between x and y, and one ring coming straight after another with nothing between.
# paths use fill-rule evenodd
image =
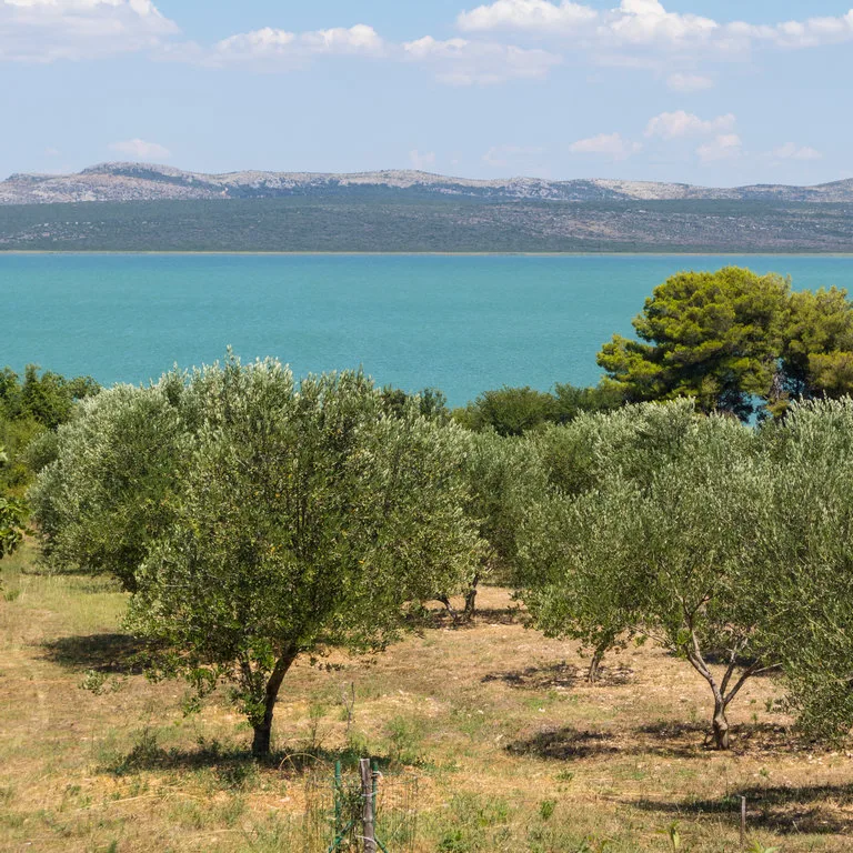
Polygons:
<instances>
[{"instance_id":1,"label":"leftmost silvery olive tree, partly behind the large foreground olive","mask_svg":"<svg viewBox=\"0 0 853 853\"><path fill-rule=\"evenodd\" d=\"M117 385L80 403L59 428L56 460L30 491L46 563L112 574L137 589L137 571L173 519L198 418L174 372L150 388Z\"/></svg>"}]
</instances>

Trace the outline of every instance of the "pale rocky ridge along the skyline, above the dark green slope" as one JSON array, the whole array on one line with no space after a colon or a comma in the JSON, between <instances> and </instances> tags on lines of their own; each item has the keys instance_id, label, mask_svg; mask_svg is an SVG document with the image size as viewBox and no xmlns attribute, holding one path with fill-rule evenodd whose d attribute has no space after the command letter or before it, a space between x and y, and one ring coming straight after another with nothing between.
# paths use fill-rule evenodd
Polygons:
<instances>
[{"instance_id":1,"label":"pale rocky ridge along the skyline, above the dark green slope","mask_svg":"<svg viewBox=\"0 0 853 853\"><path fill-rule=\"evenodd\" d=\"M651 181L539 178L471 180L429 172L389 170L332 174L311 172L230 172L202 174L148 163L102 163L77 174L13 174L0 182L0 204L73 202L203 201L330 197L364 193L400 199L443 197L489 201L773 201L851 203L853 180L816 187L756 184L733 189Z\"/></svg>"}]
</instances>

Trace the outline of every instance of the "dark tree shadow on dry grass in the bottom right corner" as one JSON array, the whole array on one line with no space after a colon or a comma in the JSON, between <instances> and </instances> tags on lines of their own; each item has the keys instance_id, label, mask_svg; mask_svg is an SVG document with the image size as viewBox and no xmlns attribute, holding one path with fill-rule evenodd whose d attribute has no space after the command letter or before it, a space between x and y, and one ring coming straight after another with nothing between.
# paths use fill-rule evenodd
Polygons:
<instances>
[{"instance_id":1,"label":"dark tree shadow on dry grass in the bottom right corner","mask_svg":"<svg viewBox=\"0 0 853 853\"><path fill-rule=\"evenodd\" d=\"M853 829L853 784L813 785L806 787L753 786L716 800L660 802L639 800L632 805L659 814L704 816L717 820L732 815L740 821L741 796L746 797L746 825L750 830L767 830L779 834L836 834Z\"/></svg>"}]
</instances>

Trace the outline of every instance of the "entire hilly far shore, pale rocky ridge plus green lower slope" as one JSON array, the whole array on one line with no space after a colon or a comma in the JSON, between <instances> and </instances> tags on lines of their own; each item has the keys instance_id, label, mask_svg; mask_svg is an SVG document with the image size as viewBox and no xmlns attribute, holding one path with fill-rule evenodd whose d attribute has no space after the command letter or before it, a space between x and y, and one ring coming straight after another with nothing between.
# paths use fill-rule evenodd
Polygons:
<instances>
[{"instance_id":1,"label":"entire hilly far shore, pale rocky ridge plus green lower slope","mask_svg":"<svg viewBox=\"0 0 853 853\"><path fill-rule=\"evenodd\" d=\"M709 189L106 163L0 182L2 250L853 253L853 181Z\"/></svg>"}]
</instances>

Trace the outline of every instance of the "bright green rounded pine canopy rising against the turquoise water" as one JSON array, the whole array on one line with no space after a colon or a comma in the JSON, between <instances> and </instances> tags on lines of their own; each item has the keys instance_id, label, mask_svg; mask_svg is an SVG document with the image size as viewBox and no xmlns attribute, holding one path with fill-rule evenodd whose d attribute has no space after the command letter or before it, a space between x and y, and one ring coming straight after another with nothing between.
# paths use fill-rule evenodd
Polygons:
<instances>
[{"instance_id":1,"label":"bright green rounded pine canopy rising against the turquoise water","mask_svg":"<svg viewBox=\"0 0 853 853\"><path fill-rule=\"evenodd\" d=\"M853 307L832 288L792 293L780 275L727 267L681 272L654 289L599 353L609 382L632 402L691 397L703 412L743 420L762 405L853 391Z\"/></svg>"}]
</instances>

